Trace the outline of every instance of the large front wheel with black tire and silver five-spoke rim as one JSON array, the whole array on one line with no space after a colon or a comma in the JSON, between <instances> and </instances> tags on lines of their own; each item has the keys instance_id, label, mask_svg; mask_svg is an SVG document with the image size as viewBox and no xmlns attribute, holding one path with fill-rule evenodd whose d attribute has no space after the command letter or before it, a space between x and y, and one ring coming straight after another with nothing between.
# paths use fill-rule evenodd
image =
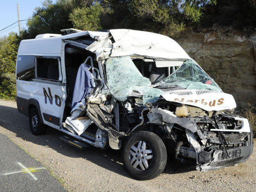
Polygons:
<instances>
[{"instance_id":1,"label":"large front wheel with black tire and silver five-spoke rim","mask_svg":"<svg viewBox=\"0 0 256 192\"><path fill-rule=\"evenodd\" d=\"M155 133L138 131L126 140L123 148L123 162L127 172L135 179L156 178L165 168L166 161L165 145Z\"/></svg>"}]
</instances>

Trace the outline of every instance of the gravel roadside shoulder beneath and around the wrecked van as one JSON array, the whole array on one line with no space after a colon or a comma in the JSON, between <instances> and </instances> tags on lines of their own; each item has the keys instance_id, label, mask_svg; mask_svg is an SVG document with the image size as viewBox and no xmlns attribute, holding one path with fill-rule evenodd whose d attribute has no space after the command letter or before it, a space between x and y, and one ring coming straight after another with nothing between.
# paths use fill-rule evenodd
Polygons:
<instances>
[{"instance_id":1,"label":"gravel roadside shoulder beneath and around the wrecked van","mask_svg":"<svg viewBox=\"0 0 256 192\"><path fill-rule=\"evenodd\" d=\"M237 166L207 172L169 158L159 177L136 181L123 169L120 151L79 150L61 141L63 133L54 128L48 128L45 135L32 135L28 117L18 113L13 101L0 100L0 133L42 162L70 192L256 191L255 153Z\"/></svg>"}]
</instances>

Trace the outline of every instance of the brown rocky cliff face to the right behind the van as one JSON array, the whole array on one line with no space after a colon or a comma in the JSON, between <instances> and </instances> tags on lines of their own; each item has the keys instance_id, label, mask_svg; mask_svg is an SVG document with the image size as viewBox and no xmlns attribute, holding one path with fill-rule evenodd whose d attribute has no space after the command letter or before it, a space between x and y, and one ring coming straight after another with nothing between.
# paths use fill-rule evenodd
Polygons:
<instances>
[{"instance_id":1,"label":"brown rocky cliff face to the right behind the van","mask_svg":"<svg viewBox=\"0 0 256 192\"><path fill-rule=\"evenodd\" d=\"M256 106L256 29L189 29L175 40L225 93L234 96L238 107Z\"/></svg>"}]
</instances>

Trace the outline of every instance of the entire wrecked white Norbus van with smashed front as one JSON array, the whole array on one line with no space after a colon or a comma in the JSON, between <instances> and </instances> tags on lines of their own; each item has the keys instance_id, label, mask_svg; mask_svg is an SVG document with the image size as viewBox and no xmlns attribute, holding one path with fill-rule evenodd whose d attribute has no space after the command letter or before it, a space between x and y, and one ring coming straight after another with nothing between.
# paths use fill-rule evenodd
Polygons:
<instances>
[{"instance_id":1,"label":"entire wrecked white Norbus van with smashed front","mask_svg":"<svg viewBox=\"0 0 256 192\"><path fill-rule=\"evenodd\" d=\"M128 173L157 177L167 152L197 170L248 160L253 133L233 96L171 38L133 30L64 30L20 43L17 106L33 134L47 127L82 148L123 150Z\"/></svg>"}]
</instances>

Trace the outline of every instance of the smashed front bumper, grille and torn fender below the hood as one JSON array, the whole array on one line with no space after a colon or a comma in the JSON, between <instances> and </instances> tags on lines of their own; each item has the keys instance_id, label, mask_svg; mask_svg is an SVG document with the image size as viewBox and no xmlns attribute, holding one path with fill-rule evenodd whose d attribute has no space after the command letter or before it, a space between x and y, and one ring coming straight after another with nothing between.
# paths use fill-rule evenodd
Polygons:
<instances>
[{"instance_id":1,"label":"smashed front bumper, grille and torn fender below the hood","mask_svg":"<svg viewBox=\"0 0 256 192\"><path fill-rule=\"evenodd\" d=\"M249 159L253 152L253 132L247 119L233 114L216 117L182 117L157 107L151 109L150 123L163 128L175 143L175 158L207 171L233 166ZM183 137L181 136L183 134Z\"/></svg>"}]
</instances>

